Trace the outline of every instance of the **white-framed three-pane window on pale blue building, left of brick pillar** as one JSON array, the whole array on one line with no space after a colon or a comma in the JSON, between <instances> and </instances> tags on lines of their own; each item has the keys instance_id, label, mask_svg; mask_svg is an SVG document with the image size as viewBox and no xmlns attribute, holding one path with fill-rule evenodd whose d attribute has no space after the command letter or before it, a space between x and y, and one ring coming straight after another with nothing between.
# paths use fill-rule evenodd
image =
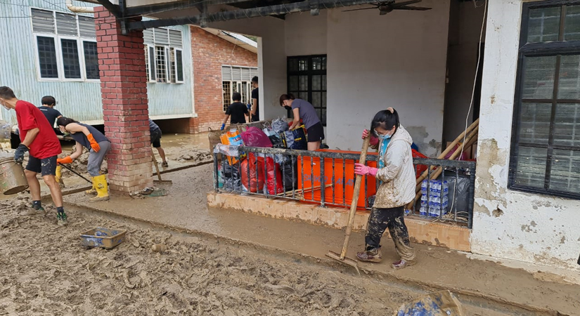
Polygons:
<instances>
[{"instance_id":1,"label":"white-framed three-pane window on pale blue building, left of brick pillar","mask_svg":"<svg viewBox=\"0 0 580 316\"><path fill-rule=\"evenodd\" d=\"M94 18L31 8L42 80L98 80Z\"/></svg>"}]
</instances>

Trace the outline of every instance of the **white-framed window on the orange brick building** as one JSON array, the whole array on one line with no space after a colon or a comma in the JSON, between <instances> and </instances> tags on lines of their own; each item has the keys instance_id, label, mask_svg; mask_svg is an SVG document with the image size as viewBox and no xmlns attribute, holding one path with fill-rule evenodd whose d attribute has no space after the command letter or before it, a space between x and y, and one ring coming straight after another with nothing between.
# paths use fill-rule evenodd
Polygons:
<instances>
[{"instance_id":1,"label":"white-framed window on the orange brick building","mask_svg":"<svg viewBox=\"0 0 580 316\"><path fill-rule=\"evenodd\" d=\"M222 104L224 112L233 103L231 97L234 92L242 95L242 103L250 103L252 98L252 77L258 75L255 67L221 66Z\"/></svg>"}]
</instances>

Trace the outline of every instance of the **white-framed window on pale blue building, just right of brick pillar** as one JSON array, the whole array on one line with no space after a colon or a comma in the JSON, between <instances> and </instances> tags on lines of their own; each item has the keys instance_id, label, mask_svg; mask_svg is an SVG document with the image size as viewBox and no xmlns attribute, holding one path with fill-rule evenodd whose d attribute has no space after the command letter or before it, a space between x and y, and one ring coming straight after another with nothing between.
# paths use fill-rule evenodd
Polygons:
<instances>
[{"instance_id":1,"label":"white-framed window on pale blue building, just right of brick pillar","mask_svg":"<svg viewBox=\"0 0 580 316\"><path fill-rule=\"evenodd\" d=\"M183 39L179 29L143 31L146 70L150 82L183 83Z\"/></svg>"}]
</instances>

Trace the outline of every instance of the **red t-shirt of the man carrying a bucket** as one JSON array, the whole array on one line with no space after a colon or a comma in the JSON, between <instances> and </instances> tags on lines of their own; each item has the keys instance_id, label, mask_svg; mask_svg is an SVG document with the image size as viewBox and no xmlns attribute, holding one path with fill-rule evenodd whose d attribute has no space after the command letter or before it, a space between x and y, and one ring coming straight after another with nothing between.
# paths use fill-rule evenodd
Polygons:
<instances>
[{"instance_id":1,"label":"red t-shirt of the man carrying a bucket","mask_svg":"<svg viewBox=\"0 0 580 316\"><path fill-rule=\"evenodd\" d=\"M18 100L16 101L16 119L18 120L18 130L20 131L20 141L24 141L26 133L31 129L38 128L40 131L37 137L28 146L32 157L38 159L57 156L63 152L60 142L56 138L49 120L32 103Z\"/></svg>"}]
</instances>

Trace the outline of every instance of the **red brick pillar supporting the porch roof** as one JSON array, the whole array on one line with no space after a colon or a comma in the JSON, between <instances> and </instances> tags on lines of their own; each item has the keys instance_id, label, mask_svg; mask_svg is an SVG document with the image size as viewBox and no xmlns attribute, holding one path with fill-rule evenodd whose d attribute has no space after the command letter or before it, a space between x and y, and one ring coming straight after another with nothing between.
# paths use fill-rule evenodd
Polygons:
<instances>
[{"instance_id":1,"label":"red brick pillar supporting the porch roof","mask_svg":"<svg viewBox=\"0 0 580 316\"><path fill-rule=\"evenodd\" d=\"M98 69L110 190L134 192L153 185L143 32L122 35L104 7L95 8Z\"/></svg>"}]
</instances>

